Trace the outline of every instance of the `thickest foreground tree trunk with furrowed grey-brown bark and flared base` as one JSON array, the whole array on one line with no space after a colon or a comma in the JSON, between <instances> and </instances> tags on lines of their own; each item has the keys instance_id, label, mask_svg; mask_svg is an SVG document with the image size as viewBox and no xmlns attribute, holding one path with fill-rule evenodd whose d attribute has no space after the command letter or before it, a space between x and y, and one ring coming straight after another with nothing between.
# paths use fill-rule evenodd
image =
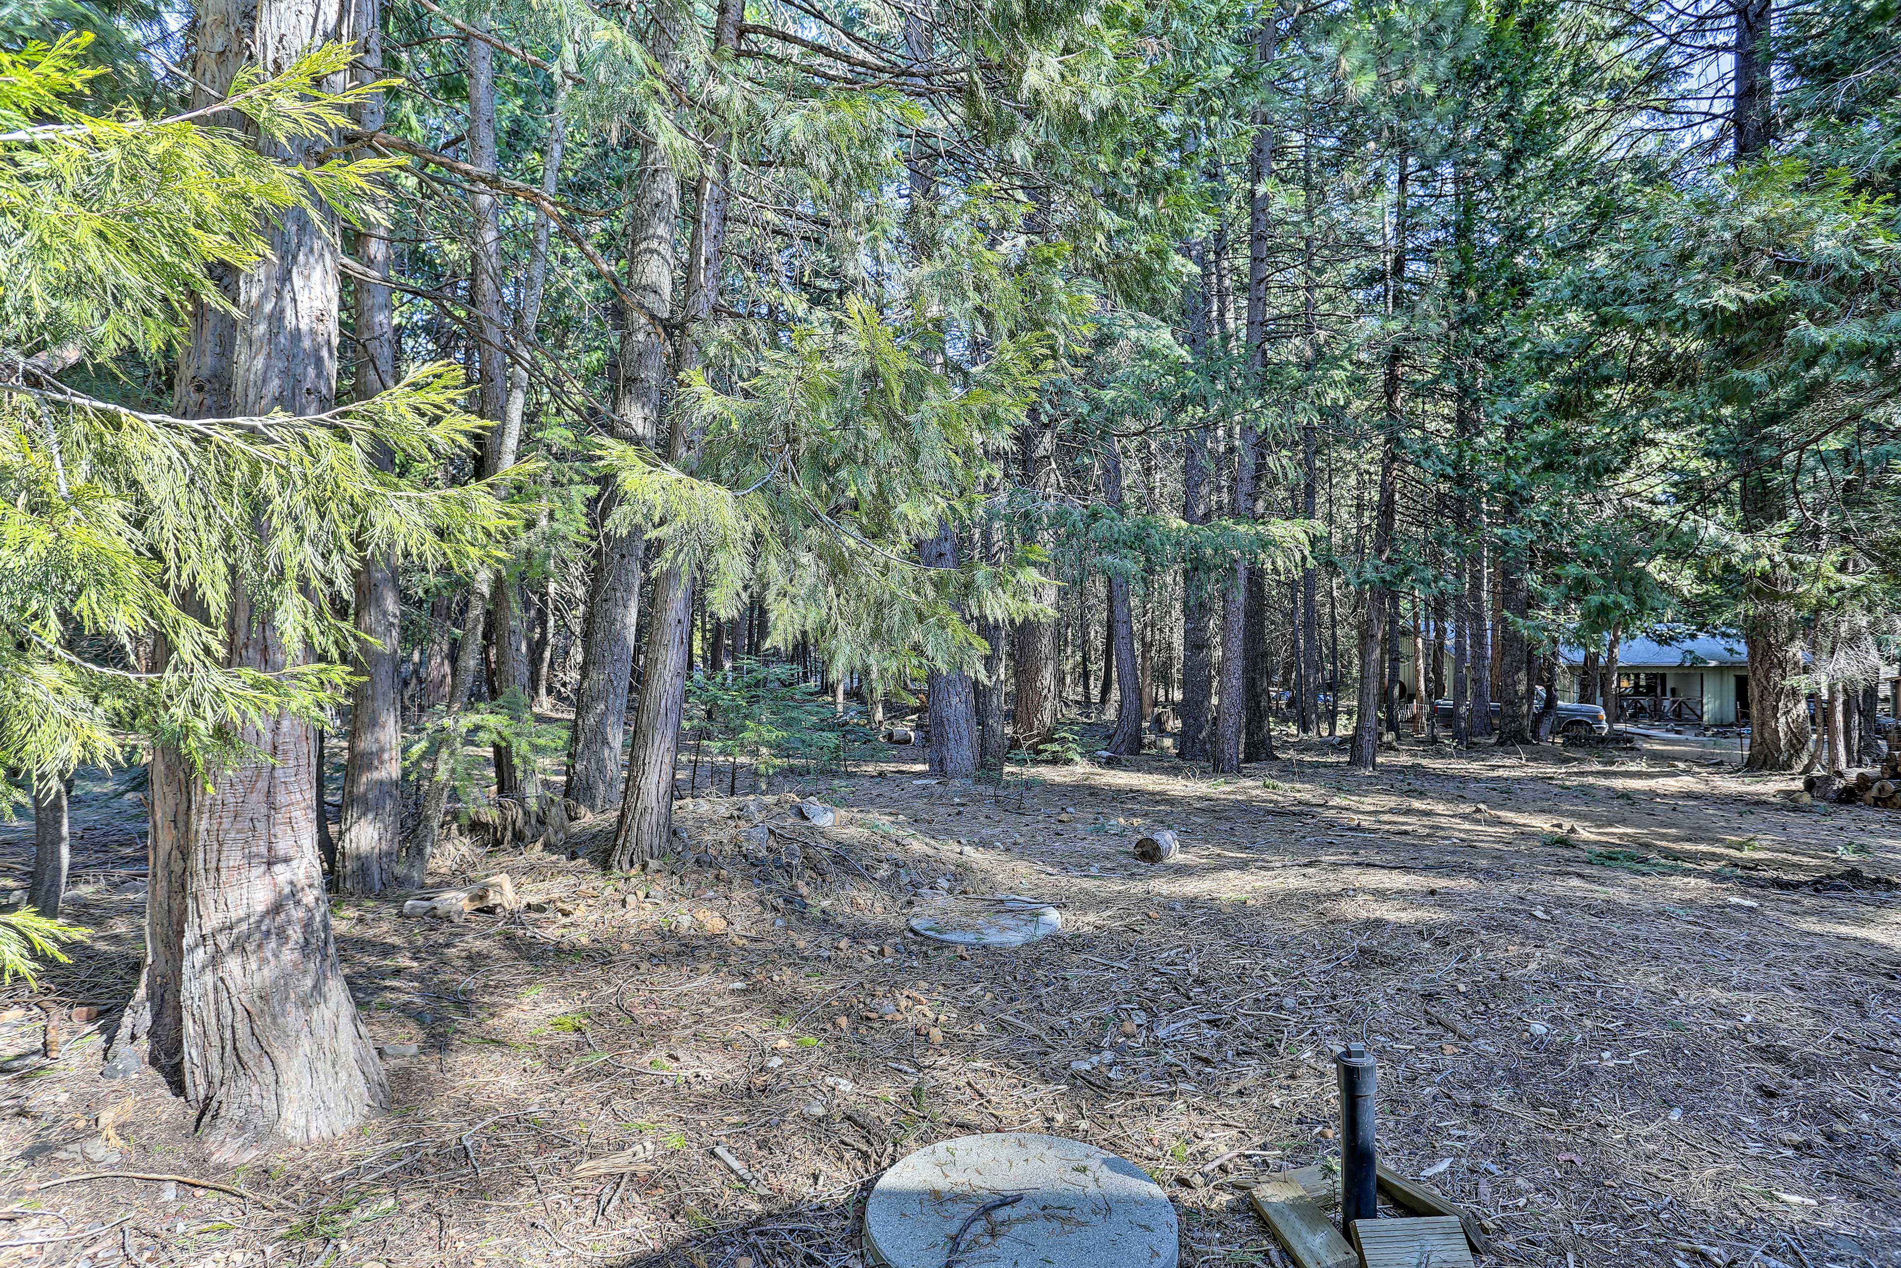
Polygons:
<instances>
[{"instance_id":1,"label":"thickest foreground tree trunk with furrowed grey-brown bark and flared base","mask_svg":"<svg viewBox=\"0 0 1901 1268\"><path fill-rule=\"evenodd\" d=\"M203 0L200 91L240 61L279 72L348 34L342 0ZM298 139L302 160L327 137ZM238 279L241 323L194 321L205 338L181 367L181 397L205 416L317 414L336 390L336 249L325 226L289 211L264 228L268 255ZM228 376L226 376L228 375ZM251 586L234 576L224 618L232 667L297 663ZM148 1002L154 1065L182 1084L213 1158L230 1165L336 1135L390 1101L390 1085L336 964L317 865L316 736L291 717L240 728L257 757L192 774L154 751Z\"/></svg>"}]
</instances>

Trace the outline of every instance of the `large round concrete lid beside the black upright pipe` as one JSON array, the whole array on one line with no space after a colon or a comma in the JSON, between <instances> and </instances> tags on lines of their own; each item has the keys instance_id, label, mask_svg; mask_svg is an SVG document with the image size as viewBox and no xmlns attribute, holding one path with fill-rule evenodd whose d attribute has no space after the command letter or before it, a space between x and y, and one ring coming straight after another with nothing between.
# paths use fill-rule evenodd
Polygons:
<instances>
[{"instance_id":1,"label":"large round concrete lid beside the black upright pipe","mask_svg":"<svg viewBox=\"0 0 1901 1268\"><path fill-rule=\"evenodd\" d=\"M943 1268L952 1249L956 1268L1177 1268L1175 1207L1146 1171L1082 1141L958 1137L899 1162L865 1203L871 1262Z\"/></svg>"}]
</instances>

